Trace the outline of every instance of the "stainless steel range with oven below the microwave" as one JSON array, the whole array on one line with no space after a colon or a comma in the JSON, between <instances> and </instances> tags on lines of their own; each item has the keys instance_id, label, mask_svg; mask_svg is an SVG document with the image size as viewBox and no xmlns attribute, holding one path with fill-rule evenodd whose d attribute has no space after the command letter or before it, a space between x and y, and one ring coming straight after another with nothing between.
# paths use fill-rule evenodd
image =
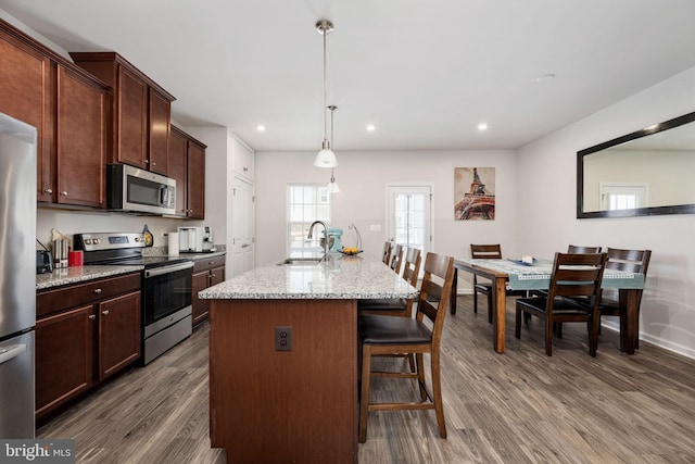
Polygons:
<instances>
[{"instance_id":1,"label":"stainless steel range with oven below the microwave","mask_svg":"<svg viewBox=\"0 0 695 464\"><path fill-rule=\"evenodd\" d=\"M179 256L143 256L139 233L75 235L85 265L142 265L141 365L163 354L192 331L191 281L193 262Z\"/></svg>"}]
</instances>

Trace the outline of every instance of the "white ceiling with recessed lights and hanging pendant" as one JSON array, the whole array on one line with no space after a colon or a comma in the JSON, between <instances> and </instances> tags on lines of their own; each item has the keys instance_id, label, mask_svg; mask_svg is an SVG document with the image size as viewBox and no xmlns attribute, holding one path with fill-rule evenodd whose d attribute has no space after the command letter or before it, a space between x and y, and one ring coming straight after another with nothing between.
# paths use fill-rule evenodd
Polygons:
<instances>
[{"instance_id":1,"label":"white ceiling with recessed lights and hanging pendant","mask_svg":"<svg viewBox=\"0 0 695 464\"><path fill-rule=\"evenodd\" d=\"M68 51L118 52L177 98L180 124L230 127L261 151L320 148L324 17L336 25L337 151L514 149L695 65L695 0L0 0L0 10Z\"/></svg>"}]
</instances>

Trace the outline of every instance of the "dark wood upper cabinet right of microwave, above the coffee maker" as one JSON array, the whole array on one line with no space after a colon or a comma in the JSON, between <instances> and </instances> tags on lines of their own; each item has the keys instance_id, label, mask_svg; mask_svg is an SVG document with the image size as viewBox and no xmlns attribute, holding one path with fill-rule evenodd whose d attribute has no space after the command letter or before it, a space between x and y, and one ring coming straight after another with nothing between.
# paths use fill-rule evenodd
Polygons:
<instances>
[{"instance_id":1,"label":"dark wood upper cabinet right of microwave, above the coffee maker","mask_svg":"<svg viewBox=\"0 0 695 464\"><path fill-rule=\"evenodd\" d=\"M205 218L205 149L200 140L172 126L169 177L176 179L176 213Z\"/></svg>"}]
</instances>

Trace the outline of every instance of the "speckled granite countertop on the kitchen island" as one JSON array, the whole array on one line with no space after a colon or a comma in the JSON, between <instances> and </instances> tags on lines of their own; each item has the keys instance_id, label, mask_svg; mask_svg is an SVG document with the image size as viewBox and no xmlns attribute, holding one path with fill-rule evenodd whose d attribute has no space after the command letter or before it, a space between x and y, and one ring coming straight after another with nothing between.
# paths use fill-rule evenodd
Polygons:
<instances>
[{"instance_id":1,"label":"speckled granite countertop on the kitchen island","mask_svg":"<svg viewBox=\"0 0 695 464\"><path fill-rule=\"evenodd\" d=\"M381 261L332 254L324 263L258 267L198 296L208 300L391 299L418 294Z\"/></svg>"}]
</instances>

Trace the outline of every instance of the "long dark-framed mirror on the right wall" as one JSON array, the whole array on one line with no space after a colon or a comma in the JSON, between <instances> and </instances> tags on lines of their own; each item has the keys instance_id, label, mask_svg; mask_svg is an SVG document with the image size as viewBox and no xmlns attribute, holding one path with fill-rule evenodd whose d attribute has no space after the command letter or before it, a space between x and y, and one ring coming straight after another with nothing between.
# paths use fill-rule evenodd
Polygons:
<instances>
[{"instance_id":1,"label":"long dark-framed mirror on the right wall","mask_svg":"<svg viewBox=\"0 0 695 464\"><path fill-rule=\"evenodd\" d=\"M577 217L695 213L695 112L577 152Z\"/></svg>"}]
</instances>

